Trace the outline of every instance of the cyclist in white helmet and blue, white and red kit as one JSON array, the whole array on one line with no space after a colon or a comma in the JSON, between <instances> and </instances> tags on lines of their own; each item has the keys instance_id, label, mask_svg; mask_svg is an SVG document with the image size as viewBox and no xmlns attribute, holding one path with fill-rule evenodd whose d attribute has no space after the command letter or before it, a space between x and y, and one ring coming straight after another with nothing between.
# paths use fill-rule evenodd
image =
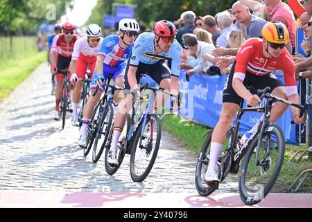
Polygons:
<instances>
[{"instance_id":1,"label":"cyclist in white helmet and blue, white and red kit","mask_svg":"<svg viewBox=\"0 0 312 222\"><path fill-rule=\"evenodd\" d=\"M94 93L96 85L102 85L102 80L106 80L110 74L114 74L113 78L116 85L123 88L126 63L130 58L138 31L139 24L135 19L121 19L119 22L119 35L108 35L104 38L96 59L96 69L92 76L91 94ZM101 92L103 92L102 87L98 89L96 96L90 96L83 109L83 126L78 139L78 145L82 147L87 146L88 124L94 107L101 98ZM122 92L118 91L114 95L114 106L118 105L119 98L123 97L119 95L120 93Z\"/></svg>"}]
</instances>

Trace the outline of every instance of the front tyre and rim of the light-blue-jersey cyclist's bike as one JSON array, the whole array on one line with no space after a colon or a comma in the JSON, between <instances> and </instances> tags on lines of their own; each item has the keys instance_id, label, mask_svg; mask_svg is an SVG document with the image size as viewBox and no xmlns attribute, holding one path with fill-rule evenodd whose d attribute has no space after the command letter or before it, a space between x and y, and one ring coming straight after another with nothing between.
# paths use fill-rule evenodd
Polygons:
<instances>
[{"instance_id":1,"label":"front tyre and rim of the light-blue-jersey cyclist's bike","mask_svg":"<svg viewBox=\"0 0 312 222\"><path fill-rule=\"evenodd\" d=\"M149 134L149 133L153 134L153 132L157 133L156 139L155 139L155 147L153 147L153 140L154 139L152 139L152 151L153 151L153 153L150 157L150 161L148 162L147 167L143 167L143 173L137 173L137 170L139 170L139 167L136 167L136 165L143 163L143 160L139 160L139 161L137 160L137 157L138 157L137 154L139 154L139 153L137 153L137 151L143 150L141 147L138 147L137 144L139 143L139 146L142 146L141 142L142 142L143 136L141 135L141 129L146 128L146 126L148 126L148 123L150 123L150 121L153 121L154 125L149 127L150 132L148 132L146 134ZM155 128L156 128L156 130L155 130ZM150 173L150 170L152 169L152 167L155 163L157 153L158 153L158 149L159 149L161 133L162 133L162 125L161 125L161 122L160 122L158 115L157 114L148 114L145 125L141 124L141 126L137 130L139 130L139 131L138 131L137 135L135 136L135 141L133 142L132 152L131 152L131 157L130 157L130 175L131 175L131 178L134 182L142 182L143 180L145 180L145 178ZM150 136L144 137L144 139L147 139L147 138L148 138L148 144L150 144ZM153 135L152 135L152 138L153 138ZM148 152L148 150L146 148L144 148L144 151L142 153L145 153L144 154L144 160L146 160L146 157L149 157L151 152Z\"/></svg>"}]
</instances>

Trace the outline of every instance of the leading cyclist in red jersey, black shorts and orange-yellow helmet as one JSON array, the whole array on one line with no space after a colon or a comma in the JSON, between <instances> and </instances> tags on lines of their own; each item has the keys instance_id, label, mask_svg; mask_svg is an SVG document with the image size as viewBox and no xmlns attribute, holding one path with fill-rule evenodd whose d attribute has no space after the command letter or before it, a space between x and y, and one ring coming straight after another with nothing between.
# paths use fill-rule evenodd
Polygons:
<instances>
[{"instance_id":1,"label":"leading cyclist in red jersey, black shorts and orange-yellow helmet","mask_svg":"<svg viewBox=\"0 0 312 222\"><path fill-rule=\"evenodd\" d=\"M206 182L220 182L217 169L218 156L226 137L225 129L231 126L241 100L248 101L248 105L251 106L261 103L259 96L251 94L246 86L255 89L269 86L275 96L299 103L293 58L285 48L289 39L286 26L280 22L268 22L262 28L262 37L262 40L251 38L243 44L227 77L223 89L223 108L211 137L209 166L204 178ZM284 71L286 86L271 74L277 69ZM287 108L288 105L284 103L275 103L270 123L275 123ZM302 123L303 117L300 118L299 110L291 106L291 112L295 123Z\"/></svg>"}]
</instances>

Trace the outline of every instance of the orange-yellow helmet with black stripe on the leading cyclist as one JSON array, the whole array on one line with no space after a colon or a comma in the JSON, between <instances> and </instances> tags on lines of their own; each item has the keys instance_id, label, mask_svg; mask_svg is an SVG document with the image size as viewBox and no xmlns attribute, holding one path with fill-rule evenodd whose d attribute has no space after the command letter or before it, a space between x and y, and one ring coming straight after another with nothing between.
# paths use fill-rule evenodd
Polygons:
<instances>
[{"instance_id":1,"label":"orange-yellow helmet with black stripe on the leading cyclist","mask_svg":"<svg viewBox=\"0 0 312 222\"><path fill-rule=\"evenodd\" d=\"M262 28L262 37L267 42L284 44L289 40L289 33L281 22L268 22Z\"/></svg>"}]
</instances>

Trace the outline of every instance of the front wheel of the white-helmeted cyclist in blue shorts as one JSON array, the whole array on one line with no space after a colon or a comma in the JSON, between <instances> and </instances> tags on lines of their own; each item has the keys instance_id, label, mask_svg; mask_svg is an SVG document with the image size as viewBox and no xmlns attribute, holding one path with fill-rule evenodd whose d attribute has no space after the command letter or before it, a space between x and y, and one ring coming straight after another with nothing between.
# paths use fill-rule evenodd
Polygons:
<instances>
[{"instance_id":1,"label":"front wheel of the white-helmeted cyclist in blue shorts","mask_svg":"<svg viewBox=\"0 0 312 222\"><path fill-rule=\"evenodd\" d=\"M108 121L106 122L106 117L107 114L109 114L108 116ZM93 152L92 152L92 162L96 163L98 162L98 160L100 160L100 157L104 151L106 142L107 142L107 138L108 135L110 134L110 128L112 128L112 119L114 117L114 110L112 108L112 104L109 104L105 107L105 110L103 111L103 116L101 117L100 121L99 121L99 125L100 127L96 127L96 137L94 139L94 146L93 146ZM107 127L104 130L105 125L107 125ZM98 153L96 153L97 148L98 148L98 139L101 138L101 134L104 134L104 140L101 144L100 149L98 150Z\"/></svg>"}]
</instances>

